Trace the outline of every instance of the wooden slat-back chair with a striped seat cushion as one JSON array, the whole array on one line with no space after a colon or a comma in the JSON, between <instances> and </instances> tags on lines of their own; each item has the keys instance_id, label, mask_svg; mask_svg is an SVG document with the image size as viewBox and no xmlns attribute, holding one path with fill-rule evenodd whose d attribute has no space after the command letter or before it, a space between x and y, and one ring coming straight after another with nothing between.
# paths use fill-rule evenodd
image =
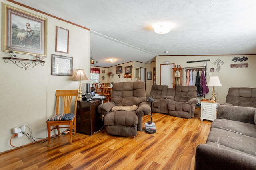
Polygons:
<instances>
[{"instance_id":1,"label":"wooden slat-back chair with a striped seat cushion","mask_svg":"<svg viewBox=\"0 0 256 170\"><path fill-rule=\"evenodd\" d=\"M73 103L73 100L72 100L73 96L76 97L74 102L75 107L74 107L74 112L71 113L70 106ZM51 131L53 129L57 129L58 136L60 136L60 128L70 129L70 144L72 144L73 129L74 129L74 135L76 135L77 96L78 96L78 90L56 90L56 115L47 120L48 146L50 145ZM60 97L63 98L63 103L60 102L59 100ZM64 109L60 108L59 106L60 104L63 105ZM60 110L63 110L62 114L59 114ZM65 126L60 126L60 125L65 125Z\"/></svg>"}]
</instances>

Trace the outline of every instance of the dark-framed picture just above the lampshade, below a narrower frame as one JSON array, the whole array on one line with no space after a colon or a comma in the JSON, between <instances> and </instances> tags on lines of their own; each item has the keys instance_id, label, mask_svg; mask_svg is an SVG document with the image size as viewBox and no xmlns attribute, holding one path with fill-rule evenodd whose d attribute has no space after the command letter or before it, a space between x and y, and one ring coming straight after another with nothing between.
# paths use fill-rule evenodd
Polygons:
<instances>
[{"instance_id":1,"label":"dark-framed picture just above the lampshade, below a narrower frame","mask_svg":"<svg viewBox=\"0 0 256 170\"><path fill-rule=\"evenodd\" d=\"M56 76L73 75L73 57L52 54L52 74Z\"/></svg>"}]
</instances>

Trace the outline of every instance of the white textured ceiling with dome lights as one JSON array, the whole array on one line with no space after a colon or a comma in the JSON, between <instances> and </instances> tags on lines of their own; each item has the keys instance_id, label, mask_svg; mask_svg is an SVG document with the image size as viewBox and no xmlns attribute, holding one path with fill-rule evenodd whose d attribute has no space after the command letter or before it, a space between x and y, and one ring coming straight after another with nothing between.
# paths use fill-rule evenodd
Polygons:
<instances>
[{"instance_id":1,"label":"white textured ceiling with dome lights","mask_svg":"<svg viewBox=\"0 0 256 170\"><path fill-rule=\"evenodd\" d=\"M156 55L256 54L255 0L14 1L91 29L95 66L147 63ZM154 33L159 21L172 30Z\"/></svg>"}]
</instances>

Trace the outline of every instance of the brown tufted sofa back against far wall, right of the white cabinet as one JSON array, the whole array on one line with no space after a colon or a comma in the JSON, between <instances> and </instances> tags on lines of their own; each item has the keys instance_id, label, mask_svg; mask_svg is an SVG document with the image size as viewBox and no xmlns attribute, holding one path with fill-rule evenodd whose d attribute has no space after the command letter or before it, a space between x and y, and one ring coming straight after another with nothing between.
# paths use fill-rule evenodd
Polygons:
<instances>
[{"instance_id":1,"label":"brown tufted sofa back against far wall, right of the white cabinet","mask_svg":"<svg viewBox=\"0 0 256 170\"><path fill-rule=\"evenodd\" d=\"M256 88L232 87L228 90L226 105L256 107Z\"/></svg>"}]
</instances>

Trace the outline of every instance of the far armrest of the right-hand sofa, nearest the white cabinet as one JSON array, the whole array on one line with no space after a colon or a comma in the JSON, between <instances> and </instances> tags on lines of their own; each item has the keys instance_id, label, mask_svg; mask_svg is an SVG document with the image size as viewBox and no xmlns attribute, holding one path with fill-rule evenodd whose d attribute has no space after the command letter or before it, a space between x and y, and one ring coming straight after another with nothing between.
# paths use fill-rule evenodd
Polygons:
<instances>
[{"instance_id":1,"label":"far armrest of the right-hand sofa, nearest the white cabinet","mask_svg":"<svg viewBox=\"0 0 256 170\"><path fill-rule=\"evenodd\" d=\"M256 112L256 108L253 108L253 107L219 105L217 109L216 118L255 124L254 123L255 112Z\"/></svg>"}]
</instances>

